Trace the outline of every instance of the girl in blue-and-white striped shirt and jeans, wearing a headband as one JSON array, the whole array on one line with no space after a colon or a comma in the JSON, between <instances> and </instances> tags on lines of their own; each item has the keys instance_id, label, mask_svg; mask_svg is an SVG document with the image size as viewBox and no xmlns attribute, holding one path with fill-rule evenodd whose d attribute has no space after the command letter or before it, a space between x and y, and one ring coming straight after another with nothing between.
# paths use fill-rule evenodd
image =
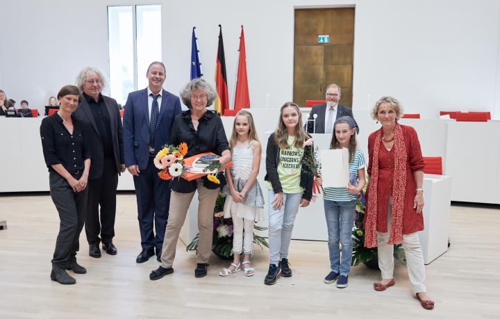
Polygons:
<instances>
[{"instance_id":1,"label":"girl in blue-and-white striped shirt and jeans, wearing a headband","mask_svg":"<svg viewBox=\"0 0 500 319\"><path fill-rule=\"evenodd\" d=\"M346 187L325 188L323 195L331 268L324 282L331 284L338 279L338 288L347 287L351 270L351 231L356 216L356 199L366 182L365 156L356 146L354 120L349 116L339 117L333 126L330 149L343 147L349 149L349 183ZM316 183L322 185L321 175L316 179ZM339 241L342 244L342 256Z\"/></svg>"}]
</instances>

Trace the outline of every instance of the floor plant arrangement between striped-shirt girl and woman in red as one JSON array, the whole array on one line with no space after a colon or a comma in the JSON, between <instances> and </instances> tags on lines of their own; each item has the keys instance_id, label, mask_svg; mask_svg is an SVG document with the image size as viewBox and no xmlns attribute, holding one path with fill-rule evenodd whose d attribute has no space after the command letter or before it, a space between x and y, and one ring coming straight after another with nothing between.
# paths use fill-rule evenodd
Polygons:
<instances>
[{"instance_id":1,"label":"floor plant arrangement between striped-shirt girl and woman in red","mask_svg":"<svg viewBox=\"0 0 500 319\"><path fill-rule=\"evenodd\" d=\"M367 181L368 185L368 181ZM365 186L366 187L366 186ZM356 200L356 218L354 219L354 227L352 231L353 240L353 257L351 265L359 265L365 263L369 268L378 268L377 248L365 247L365 204L366 199L363 195ZM394 261L405 261L405 254L401 245L394 245Z\"/></svg>"}]
</instances>

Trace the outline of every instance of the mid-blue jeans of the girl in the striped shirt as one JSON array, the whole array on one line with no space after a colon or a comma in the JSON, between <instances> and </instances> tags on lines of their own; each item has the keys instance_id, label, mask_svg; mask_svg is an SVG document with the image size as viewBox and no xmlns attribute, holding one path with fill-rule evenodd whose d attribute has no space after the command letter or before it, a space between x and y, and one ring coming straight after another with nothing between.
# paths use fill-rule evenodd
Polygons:
<instances>
[{"instance_id":1,"label":"mid-blue jeans of the girl in the striped shirt","mask_svg":"<svg viewBox=\"0 0 500 319\"><path fill-rule=\"evenodd\" d=\"M326 227L328 228L328 252L331 271L349 276L352 260L351 233L356 216L356 199L337 202L324 200ZM342 245L340 254L339 241Z\"/></svg>"}]
</instances>

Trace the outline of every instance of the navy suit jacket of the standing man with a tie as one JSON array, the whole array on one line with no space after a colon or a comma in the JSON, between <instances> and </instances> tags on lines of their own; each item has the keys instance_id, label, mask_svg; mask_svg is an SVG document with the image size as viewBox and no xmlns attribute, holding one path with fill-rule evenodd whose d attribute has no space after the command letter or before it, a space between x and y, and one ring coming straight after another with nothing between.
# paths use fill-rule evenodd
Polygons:
<instances>
[{"instance_id":1,"label":"navy suit jacket of the standing man with a tie","mask_svg":"<svg viewBox=\"0 0 500 319\"><path fill-rule=\"evenodd\" d=\"M160 115L156 122L155 152L170 142L170 130L176 115L181 113L181 100L162 91ZM124 114L125 165L139 165L145 170L149 159L149 109L147 88L128 94Z\"/></svg>"}]
</instances>

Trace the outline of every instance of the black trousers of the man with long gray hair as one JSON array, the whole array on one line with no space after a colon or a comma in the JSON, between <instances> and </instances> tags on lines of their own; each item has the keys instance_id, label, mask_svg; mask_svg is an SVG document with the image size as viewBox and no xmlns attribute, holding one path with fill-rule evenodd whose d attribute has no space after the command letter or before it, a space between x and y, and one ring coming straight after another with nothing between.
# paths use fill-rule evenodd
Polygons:
<instances>
[{"instance_id":1,"label":"black trousers of the man with long gray hair","mask_svg":"<svg viewBox=\"0 0 500 319\"><path fill-rule=\"evenodd\" d=\"M115 237L116 190L118 172L113 155L104 158L103 174L99 179L89 179L85 234L89 245L102 241L111 243ZM99 218L99 206L101 216ZM99 234L101 238L99 238Z\"/></svg>"}]
</instances>

